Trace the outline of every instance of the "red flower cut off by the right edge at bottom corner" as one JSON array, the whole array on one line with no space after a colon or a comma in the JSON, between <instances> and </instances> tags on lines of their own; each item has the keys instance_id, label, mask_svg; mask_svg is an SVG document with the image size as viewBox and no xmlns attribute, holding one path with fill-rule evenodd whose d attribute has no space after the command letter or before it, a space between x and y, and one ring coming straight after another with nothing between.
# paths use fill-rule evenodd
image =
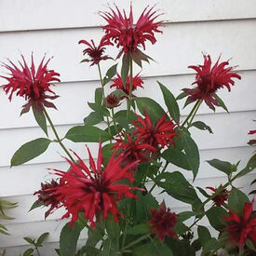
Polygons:
<instances>
[{"instance_id":1,"label":"red flower cut off by the right edge at bottom corner","mask_svg":"<svg viewBox=\"0 0 256 256\"><path fill-rule=\"evenodd\" d=\"M256 218L252 217L254 200L244 205L243 216L238 216L236 212L230 210L230 216L222 217L226 220L224 231L229 233L228 242L242 247L249 238L256 246Z\"/></svg>"}]
</instances>

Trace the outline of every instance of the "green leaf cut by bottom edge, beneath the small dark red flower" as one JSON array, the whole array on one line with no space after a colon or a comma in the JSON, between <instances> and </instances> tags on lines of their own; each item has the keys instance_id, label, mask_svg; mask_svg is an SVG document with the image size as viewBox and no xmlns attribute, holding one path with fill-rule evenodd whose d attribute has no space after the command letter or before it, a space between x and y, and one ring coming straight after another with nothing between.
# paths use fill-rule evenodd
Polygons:
<instances>
[{"instance_id":1,"label":"green leaf cut by bottom edge, beneath the small dark red flower","mask_svg":"<svg viewBox=\"0 0 256 256\"><path fill-rule=\"evenodd\" d=\"M149 244L136 247L133 250L134 256L173 256L172 251L168 246L160 241L152 241Z\"/></svg>"}]
</instances>

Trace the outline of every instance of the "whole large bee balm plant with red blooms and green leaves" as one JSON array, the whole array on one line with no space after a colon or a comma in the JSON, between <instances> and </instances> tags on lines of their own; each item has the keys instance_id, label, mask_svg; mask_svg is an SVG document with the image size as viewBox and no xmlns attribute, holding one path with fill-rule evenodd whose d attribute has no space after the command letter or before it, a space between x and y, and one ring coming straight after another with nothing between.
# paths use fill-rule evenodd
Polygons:
<instances>
[{"instance_id":1,"label":"whole large bee balm plant with red blooms and green leaves","mask_svg":"<svg viewBox=\"0 0 256 256\"><path fill-rule=\"evenodd\" d=\"M52 169L55 176L34 193L37 199L32 207L47 207L46 218L60 208L65 209L62 219L71 217L62 228L58 253L195 255L201 249L202 255L216 255L222 249L229 255L252 255L249 253L256 251L254 200L250 202L233 182L256 168L256 155L245 168L240 168L239 162L209 160L210 166L227 176L227 182L217 188L195 187L183 176L184 170L190 171L195 181L199 170L198 147L190 128L212 133L205 123L194 122L200 105L205 102L213 111L215 107L227 111L217 93L222 88L230 91L240 75L229 61L221 62L219 58L212 65L210 56L203 55L203 64L189 67L195 71L194 88L184 88L177 98L157 82L166 107L150 98L136 97L135 90L146 86L140 73L133 74L134 65L142 69L143 61L152 61L143 51L147 41L155 44L155 34L162 33L161 14L154 7L146 7L135 24L132 7L128 15L118 7L100 15L106 25L99 46L93 39L79 44L86 45L82 62L98 67L101 87L95 90L95 102L88 102L92 112L84 125L70 128L64 138L60 138L47 114L47 107L56 108L48 100L58 97L50 87L52 82L60 81L60 74L48 70L44 59L36 70L33 56L30 67L23 56L20 67L11 61L5 64L9 74L3 76L7 79L4 90L10 93L9 100L13 93L23 97L27 102L21 114L32 109L40 128L47 135L48 124L56 137L51 140L47 135L22 145L13 155L11 166L43 154L53 142L58 142L65 154L67 170ZM114 61L105 55L107 47L120 49L116 61L122 58L121 69L117 73L117 63L102 76L101 61ZM108 86L113 91L106 95ZM186 99L184 107L194 104L184 120L178 103L182 99ZM87 163L68 150L64 140L99 142L98 155L88 149ZM173 212L171 205L156 200L159 192L188 204L191 210ZM218 236L211 236L209 229L199 224L203 218L209 220ZM76 251L85 228L86 244Z\"/></svg>"}]
</instances>

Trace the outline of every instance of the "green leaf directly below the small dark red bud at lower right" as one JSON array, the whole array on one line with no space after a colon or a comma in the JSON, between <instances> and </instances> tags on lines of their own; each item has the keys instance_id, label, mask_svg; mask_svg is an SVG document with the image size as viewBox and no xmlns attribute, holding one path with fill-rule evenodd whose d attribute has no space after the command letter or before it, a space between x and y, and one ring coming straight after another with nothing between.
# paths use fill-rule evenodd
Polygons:
<instances>
[{"instance_id":1,"label":"green leaf directly below the small dark red bud at lower right","mask_svg":"<svg viewBox=\"0 0 256 256\"><path fill-rule=\"evenodd\" d=\"M226 210L221 207L213 206L206 212L206 214L210 225L216 230L221 231L224 226L222 217L228 215Z\"/></svg>"}]
</instances>

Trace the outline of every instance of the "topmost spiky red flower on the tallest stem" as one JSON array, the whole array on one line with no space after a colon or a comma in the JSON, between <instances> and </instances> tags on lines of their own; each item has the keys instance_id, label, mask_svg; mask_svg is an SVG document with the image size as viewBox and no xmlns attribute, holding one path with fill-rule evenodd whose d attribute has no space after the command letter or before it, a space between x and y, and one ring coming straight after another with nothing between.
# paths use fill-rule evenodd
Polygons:
<instances>
[{"instance_id":1,"label":"topmost spiky red flower on the tallest stem","mask_svg":"<svg viewBox=\"0 0 256 256\"><path fill-rule=\"evenodd\" d=\"M136 51L140 46L145 49L146 41L155 44L155 33L162 33L157 28L163 21L155 22L159 15L155 15L153 7L146 7L135 25L131 6L128 17L125 11L122 15L118 7L115 8L116 12L112 8L111 12L101 12L101 17L107 21L107 25L103 26L104 39L113 41L117 47L122 47L121 51L125 53Z\"/></svg>"}]
</instances>

